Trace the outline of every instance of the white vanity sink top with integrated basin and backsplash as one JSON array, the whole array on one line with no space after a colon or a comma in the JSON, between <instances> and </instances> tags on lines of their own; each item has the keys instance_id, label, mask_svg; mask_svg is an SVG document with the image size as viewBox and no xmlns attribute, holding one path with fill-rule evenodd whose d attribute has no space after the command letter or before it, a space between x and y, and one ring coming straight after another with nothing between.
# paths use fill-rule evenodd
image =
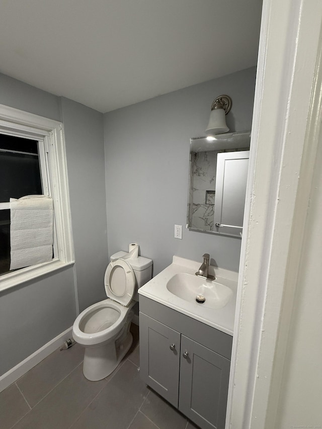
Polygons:
<instances>
[{"instance_id":1,"label":"white vanity sink top with integrated basin and backsplash","mask_svg":"<svg viewBox=\"0 0 322 429\"><path fill-rule=\"evenodd\" d=\"M169 267L139 288L139 295L232 335L238 273L210 266L216 280L206 280L195 275L200 265L174 256ZM197 295L205 301L197 302Z\"/></svg>"}]
</instances>

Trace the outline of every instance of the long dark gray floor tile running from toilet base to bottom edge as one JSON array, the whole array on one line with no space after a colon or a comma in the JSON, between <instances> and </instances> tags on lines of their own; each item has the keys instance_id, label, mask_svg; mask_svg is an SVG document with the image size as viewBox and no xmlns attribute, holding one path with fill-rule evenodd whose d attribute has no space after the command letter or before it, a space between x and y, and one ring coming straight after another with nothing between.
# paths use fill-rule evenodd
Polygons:
<instances>
[{"instance_id":1,"label":"long dark gray floor tile running from toilet base to bottom edge","mask_svg":"<svg viewBox=\"0 0 322 429\"><path fill-rule=\"evenodd\" d=\"M15 429L67 429L107 384L92 382L79 365L15 426Z\"/></svg>"}]
</instances>

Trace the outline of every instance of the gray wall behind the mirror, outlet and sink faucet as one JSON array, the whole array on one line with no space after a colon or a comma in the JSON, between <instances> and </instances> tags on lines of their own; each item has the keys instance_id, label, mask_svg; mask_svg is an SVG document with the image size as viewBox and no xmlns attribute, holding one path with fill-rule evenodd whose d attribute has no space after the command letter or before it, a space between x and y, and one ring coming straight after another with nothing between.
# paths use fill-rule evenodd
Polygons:
<instances>
[{"instance_id":1,"label":"gray wall behind the mirror, outlet and sink faucet","mask_svg":"<svg viewBox=\"0 0 322 429\"><path fill-rule=\"evenodd\" d=\"M189 139L202 136L212 101L228 94L230 131L250 130L256 69L252 67L104 116L109 252L140 244L157 274L177 254L238 270L240 239L189 231L186 225ZM174 225L183 225L182 240Z\"/></svg>"}]
</instances>

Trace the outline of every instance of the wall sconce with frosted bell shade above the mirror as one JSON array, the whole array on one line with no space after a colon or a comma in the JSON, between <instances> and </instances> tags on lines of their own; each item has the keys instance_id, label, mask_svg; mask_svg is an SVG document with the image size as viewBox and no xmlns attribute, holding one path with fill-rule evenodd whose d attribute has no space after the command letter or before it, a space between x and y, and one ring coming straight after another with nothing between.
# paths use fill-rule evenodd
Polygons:
<instances>
[{"instance_id":1,"label":"wall sconce with frosted bell shade above the mirror","mask_svg":"<svg viewBox=\"0 0 322 429\"><path fill-rule=\"evenodd\" d=\"M220 134L229 131L225 116L231 109L231 98L229 96L219 96L211 105L209 124L206 134Z\"/></svg>"}]
</instances>

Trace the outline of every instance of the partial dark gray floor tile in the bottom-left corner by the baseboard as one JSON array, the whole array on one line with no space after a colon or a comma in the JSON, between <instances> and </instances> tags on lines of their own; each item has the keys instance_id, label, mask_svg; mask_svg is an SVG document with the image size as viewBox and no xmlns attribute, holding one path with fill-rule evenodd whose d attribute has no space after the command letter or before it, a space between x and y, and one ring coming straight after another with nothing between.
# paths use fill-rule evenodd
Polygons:
<instances>
[{"instance_id":1,"label":"partial dark gray floor tile in the bottom-left corner by the baseboard","mask_svg":"<svg viewBox=\"0 0 322 429\"><path fill-rule=\"evenodd\" d=\"M0 393L0 427L9 429L30 410L15 384Z\"/></svg>"}]
</instances>

